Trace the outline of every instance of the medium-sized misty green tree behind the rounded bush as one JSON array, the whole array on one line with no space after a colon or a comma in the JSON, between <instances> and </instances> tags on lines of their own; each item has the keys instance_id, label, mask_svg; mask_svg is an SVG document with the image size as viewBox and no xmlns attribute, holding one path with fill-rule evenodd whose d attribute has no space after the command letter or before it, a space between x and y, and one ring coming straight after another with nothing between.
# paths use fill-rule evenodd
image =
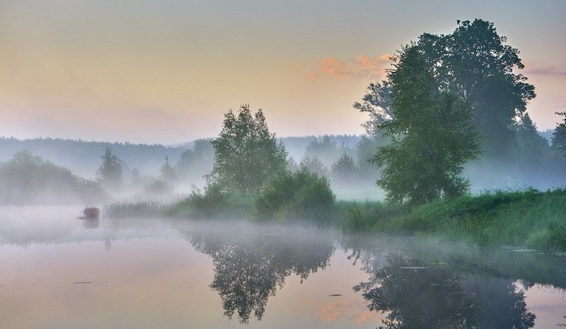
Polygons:
<instances>
[{"instance_id":1,"label":"medium-sized misty green tree behind the rounded bush","mask_svg":"<svg viewBox=\"0 0 566 329\"><path fill-rule=\"evenodd\" d=\"M209 179L227 191L258 193L277 172L287 167L287 150L270 133L261 109L254 115L244 104L224 114L224 126L212 140L214 167Z\"/></svg>"}]
</instances>

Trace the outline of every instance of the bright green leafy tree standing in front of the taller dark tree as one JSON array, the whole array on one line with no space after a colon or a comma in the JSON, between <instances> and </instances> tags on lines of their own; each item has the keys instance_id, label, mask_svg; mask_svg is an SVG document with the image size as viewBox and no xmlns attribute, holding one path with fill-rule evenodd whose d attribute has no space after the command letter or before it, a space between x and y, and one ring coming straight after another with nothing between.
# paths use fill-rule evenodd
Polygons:
<instances>
[{"instance_id":1,"label":"bright green leafy tree standing in front of the taller dark tree","mask_svg":"<svg viewBox=\"0 0 566 329\"><path fill-rule=\"evenodd\" d=\"M393 116L379 128L392 141L372 160L383 168L378 185L388 200L418 204L466 193L462 166L480 152L468 102L439 88L416 44L403 47L388 79Z\"/></svg>"}]
</instances>

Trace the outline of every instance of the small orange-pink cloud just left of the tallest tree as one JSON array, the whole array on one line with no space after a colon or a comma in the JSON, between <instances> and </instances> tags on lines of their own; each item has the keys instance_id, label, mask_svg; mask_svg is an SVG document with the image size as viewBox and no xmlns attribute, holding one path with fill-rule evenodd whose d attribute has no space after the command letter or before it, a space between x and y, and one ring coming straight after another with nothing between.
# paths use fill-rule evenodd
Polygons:
<instances>
[{"instance_id":1,"label":"small orange-pink cloud just left of the tallest tree","mask_svg":"<svg viewBox=\"0 0 566 329\"><path fill-rule=\"evenodd\" d=\"M355 58L344 61L333 57L325 57L318 63L318 73L308 73L306 78L330 76L339 80L371 79L379 80L386 76L386 68L391 64L391 55L366 56L358 54Z\"/></svg>"}]
</instances>

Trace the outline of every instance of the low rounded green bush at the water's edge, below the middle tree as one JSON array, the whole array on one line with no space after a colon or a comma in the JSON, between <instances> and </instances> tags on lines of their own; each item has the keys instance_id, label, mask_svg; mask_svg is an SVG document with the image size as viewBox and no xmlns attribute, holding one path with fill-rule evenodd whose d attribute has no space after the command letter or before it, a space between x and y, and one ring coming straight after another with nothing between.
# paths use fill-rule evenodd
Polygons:
<instances>
[{"instance_id":1,"label":"low rounded green bush at the water's edge, below the middle tree","mask_svg":"<svg viewBox=\"0 0 566 329\"><path fill-rule=\"evenodd\" d=\"M306 167L297 172L280 172L262 190L255 202L260 220L318 217L334 203L335 196L325 177Z\"/></svg>"}]
</instances>

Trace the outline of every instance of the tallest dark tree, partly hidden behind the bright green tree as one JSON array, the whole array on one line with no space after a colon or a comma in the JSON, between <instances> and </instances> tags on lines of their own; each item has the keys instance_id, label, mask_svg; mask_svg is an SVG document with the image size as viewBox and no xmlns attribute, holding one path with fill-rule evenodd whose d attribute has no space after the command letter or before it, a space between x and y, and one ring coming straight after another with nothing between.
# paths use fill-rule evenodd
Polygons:
<instances>
[{"instance_id":1,"label":"tallest dark tree, partly hidden behind the bright green tree","mask_svg":"<svg viewBox=\"0 0 566 329\"><path fill-rule=\"evenodd\" d=\"M412 44L424 56L437 88L470 104L470 121L490 157L513 150L516 122L525 117L526 102L536 96L526 77L515 73L524 68L519 50L505 42L493 23L475 19L458 21L449 35L424 33ZM369 113L364 126L370 133L392 118L391 98L391 80L385 80L371 83L363 102L354 103L354 108Z\"/></svg>"}]
</instances>

